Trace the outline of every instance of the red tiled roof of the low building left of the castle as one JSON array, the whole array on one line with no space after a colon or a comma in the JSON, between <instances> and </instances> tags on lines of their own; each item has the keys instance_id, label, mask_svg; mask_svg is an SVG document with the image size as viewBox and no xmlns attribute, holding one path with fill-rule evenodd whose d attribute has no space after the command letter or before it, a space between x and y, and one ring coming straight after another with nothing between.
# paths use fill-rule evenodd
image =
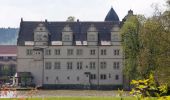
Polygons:
<instances>
[{"instance_id":1,"label":"red tiled roof of the low building left of the castle","mask_svg":"<svg viewBox=\"0 0 170 100\"><path fill-rule=\"evenodd\" d=\"M17 54L16 45L0 45L0 55Z\"/></svg>"}]
</instances>

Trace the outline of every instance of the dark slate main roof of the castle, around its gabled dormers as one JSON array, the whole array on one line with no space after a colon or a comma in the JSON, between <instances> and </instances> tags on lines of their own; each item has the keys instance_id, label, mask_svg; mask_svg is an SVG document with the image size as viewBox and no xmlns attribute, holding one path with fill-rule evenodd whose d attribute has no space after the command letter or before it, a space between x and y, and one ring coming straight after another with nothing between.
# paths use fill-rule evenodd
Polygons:
<instances>
[{"instance_id":1,"label":"dark slate main roof of the castle, around its gabled dormers","mask_svg":"<svg viewBox=\"0 0 170 100\"><path fill-rule=\"evenodd\" d=\"M40 22L40 21L21 21L18 37L18 45L24 45L25 41L34 41L34 29L43 23L50 32L50 41L62 41L62 30L68 25L73 31L73 42L87 41L87 31L94 25L98 31L99 41L110 41L111 29L119 25L119 22Z\"/></svg>"}]
</instances>

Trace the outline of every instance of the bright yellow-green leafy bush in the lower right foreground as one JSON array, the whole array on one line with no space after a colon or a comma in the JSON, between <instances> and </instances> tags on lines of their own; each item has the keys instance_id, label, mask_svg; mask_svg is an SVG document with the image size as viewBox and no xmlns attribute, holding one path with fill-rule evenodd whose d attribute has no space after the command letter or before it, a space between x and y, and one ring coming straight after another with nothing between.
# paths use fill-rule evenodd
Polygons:
<instances>
[{"instance_id":1,"label":"bright yellow-green leafy bush in the lower right foreground","mask_svg":"<svg viewBox=\"0 0 170 100\"><path fill-rule=\"evenodd\" d=\"M152 74L148 79L132 80L131 84L133 85L133 89L130 93L133 95L142 97L160 97L167 93L167 85L159 85Z\"/></svg>"}]
</instances>

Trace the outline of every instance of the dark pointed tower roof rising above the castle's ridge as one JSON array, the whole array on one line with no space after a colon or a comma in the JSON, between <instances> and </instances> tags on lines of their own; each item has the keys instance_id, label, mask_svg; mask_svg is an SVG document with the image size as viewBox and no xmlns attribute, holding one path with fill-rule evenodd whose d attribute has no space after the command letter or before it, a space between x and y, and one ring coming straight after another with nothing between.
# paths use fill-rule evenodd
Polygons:
<instances>
[{"instance_id":1,"label":"dark pointed tower roof rising above the castle's ridge","mask_svg":"<svg viewBox=\"0 0 170 100\"><path fill-rule=\"evenodd\" d=\"M113 8L108 12L105 21L119 21L119 17Z\"/></svg>"}]
</instances>

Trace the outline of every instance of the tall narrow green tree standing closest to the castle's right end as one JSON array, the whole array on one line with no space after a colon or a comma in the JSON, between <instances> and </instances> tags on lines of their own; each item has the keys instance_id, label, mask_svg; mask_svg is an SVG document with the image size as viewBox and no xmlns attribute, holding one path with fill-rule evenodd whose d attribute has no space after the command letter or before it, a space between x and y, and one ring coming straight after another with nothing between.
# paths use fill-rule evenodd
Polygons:
<instances>
[{"instance_id":1,"label":"tall narrow green tree standing closest to the castle's right end","mask_svg":"<svg viewBox=\"0 0 170 100\"><path fill-rule=\"evenodd\" d=\"M121 28L122 45L125 52L124 72L130 80L136 79L138 76L139 26L137 16L130 16Z\"/></svg>"}]
</instances>

